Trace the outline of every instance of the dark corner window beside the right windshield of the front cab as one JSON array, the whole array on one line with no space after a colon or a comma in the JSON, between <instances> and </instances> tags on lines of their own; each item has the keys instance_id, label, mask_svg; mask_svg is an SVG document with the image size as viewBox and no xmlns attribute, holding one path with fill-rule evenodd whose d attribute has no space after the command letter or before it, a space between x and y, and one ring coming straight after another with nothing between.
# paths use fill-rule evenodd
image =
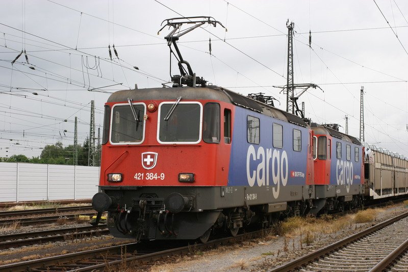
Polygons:
<instances>
[{"instance_id":1,"label":"dark corner window beside the right windshield of the front cab","mask_svg":"<svg viewBox=\"0 0 408 272\"><path fill-rule=\"evenodd\" d=\"M204 106L202 139L208 143L220 142L220 104L207 103Z\"/></svg>"}]
</instances>

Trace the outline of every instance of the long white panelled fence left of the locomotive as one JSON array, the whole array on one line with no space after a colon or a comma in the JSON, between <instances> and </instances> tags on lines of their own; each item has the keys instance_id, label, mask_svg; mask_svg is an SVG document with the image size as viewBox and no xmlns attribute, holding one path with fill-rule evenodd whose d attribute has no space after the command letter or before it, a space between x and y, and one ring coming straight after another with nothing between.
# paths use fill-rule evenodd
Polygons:
<instances>
[{"instance_id":1,"label":"long white panelled fence left of the locomotive","mask_svg":"<svg viewBox=\"0 0 408 272\"><path fill-rule=\"evenodd\" d=\"M91 199L100 167L0 162L0 202Z\"/></svg>"}]
</instances>

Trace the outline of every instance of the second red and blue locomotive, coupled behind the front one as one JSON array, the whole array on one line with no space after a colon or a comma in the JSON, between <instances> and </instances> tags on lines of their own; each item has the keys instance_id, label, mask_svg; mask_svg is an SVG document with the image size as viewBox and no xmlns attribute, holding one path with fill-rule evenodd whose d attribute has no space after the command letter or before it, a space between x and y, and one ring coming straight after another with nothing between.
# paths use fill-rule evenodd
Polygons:
<instances>
[{"instance_id":1,"label":"second red and blue locomotive, coupled behind the front one","mask_svg":"<svg viewBox=\"0 0 408 272\"><path fill-rule=\"evenodd\" d=\"M331 127L330 127L331 126ZM337 128L337 129L336 129ZM344 211L364 202L364 147L338 126L312 123L316 213Z\"/></svg>"}]
</instances>

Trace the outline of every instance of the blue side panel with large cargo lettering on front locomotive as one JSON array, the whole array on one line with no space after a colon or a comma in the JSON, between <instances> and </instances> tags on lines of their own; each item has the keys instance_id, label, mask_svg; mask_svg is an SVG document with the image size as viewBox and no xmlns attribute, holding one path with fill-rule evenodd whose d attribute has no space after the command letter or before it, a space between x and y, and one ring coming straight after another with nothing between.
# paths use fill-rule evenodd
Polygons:
<instances>
[{"instance_id":1,"label":"blue side panel with large cargo lettering on front locomotive","mask_svg":"<svg viewBox=\"0 0 408 272\"><path fill-rule=\"evenodd\" d=\"M248 116L259 118L259 129L256 129L260 136L259 144L248 142ZM273 144L274 123L282 126L282 148L274 147ZM277 127L279 129L280 126ZM294 133L297 142L293 140ZM279 137L277 134L280 133L275 132L276 137ZM273 190L276 199L280 186L304 185L307 177L308 139L307 128L236 107L228 186L277 187ZM255 142L257 140L255 138Z\"/></svg>"}]
</instances>

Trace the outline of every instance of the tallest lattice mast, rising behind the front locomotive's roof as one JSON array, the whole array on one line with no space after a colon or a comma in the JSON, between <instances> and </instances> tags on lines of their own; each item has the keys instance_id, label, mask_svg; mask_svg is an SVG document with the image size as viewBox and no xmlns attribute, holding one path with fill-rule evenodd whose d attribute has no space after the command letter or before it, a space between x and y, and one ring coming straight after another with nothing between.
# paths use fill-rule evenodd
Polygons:
<instances>
[{"instance_id":1,"label":"tallest lattice mast, rising behind the front locomotive's roof","mask_svg":"<svg viewBox=\"0 0 408 272\"><path fill-rule=\"evenodd\" d=\"M286 81L286 111L292 114L295 113L294 99L293 99L293 29L295 23L289 23L286 21L286 27L288 28L288 73Z\"/></svg>"}]
</instances>

